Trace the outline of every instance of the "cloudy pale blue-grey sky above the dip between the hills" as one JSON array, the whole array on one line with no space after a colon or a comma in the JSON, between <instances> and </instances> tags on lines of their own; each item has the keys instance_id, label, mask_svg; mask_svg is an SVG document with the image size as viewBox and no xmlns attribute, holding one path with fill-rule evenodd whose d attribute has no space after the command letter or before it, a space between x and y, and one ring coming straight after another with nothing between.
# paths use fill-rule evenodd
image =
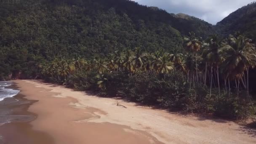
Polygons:
<instances>
[{"instance_id":1,"label":"cloudy pale blue-grey sky above the dip between the hills","mask_svg":"<svg viewBox=\"0 0 256 144\"><path fill-rule=\"evenodd\" d=\"M229 13L254 0L134 0L141 5L157 6L169 13L186 13L216 24Z\"/></svg>"}]
</instances>

